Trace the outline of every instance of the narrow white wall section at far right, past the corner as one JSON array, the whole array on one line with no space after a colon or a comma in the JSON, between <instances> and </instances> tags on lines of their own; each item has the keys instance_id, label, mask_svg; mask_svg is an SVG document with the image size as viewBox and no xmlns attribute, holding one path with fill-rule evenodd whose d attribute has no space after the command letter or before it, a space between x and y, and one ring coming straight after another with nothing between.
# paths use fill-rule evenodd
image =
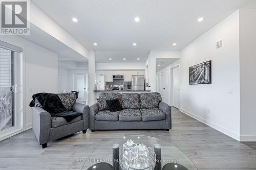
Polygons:
<instances>
[{"instance_id":1,"label":"narrow white wall section at far right, past the corner","mask_svg":"<svg viewBox=\"0 0 256 170\"><path fill-rule=\"evenodd\" d=\"M255 4L255 2L254 2ZM256 4L240 9L240 140L256 141Z\"/></svg>"}]
</instances>

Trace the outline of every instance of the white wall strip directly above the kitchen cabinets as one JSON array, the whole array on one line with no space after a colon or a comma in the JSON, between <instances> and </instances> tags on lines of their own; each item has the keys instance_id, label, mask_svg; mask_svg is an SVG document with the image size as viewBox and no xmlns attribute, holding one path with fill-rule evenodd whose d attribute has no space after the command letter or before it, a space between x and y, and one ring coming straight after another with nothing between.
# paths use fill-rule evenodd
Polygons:
<instances>
[{"instance_id":1,"label":"white wall strip directly above the kitchen cabinets","mask_svg":"<svg viewBox=\"0 0 256 170\"><path fill-rule=\"evenodd\" d=\"M100 69L145 69L145 63L96 63L96 70Z\"/></svg>"}]
</instances>

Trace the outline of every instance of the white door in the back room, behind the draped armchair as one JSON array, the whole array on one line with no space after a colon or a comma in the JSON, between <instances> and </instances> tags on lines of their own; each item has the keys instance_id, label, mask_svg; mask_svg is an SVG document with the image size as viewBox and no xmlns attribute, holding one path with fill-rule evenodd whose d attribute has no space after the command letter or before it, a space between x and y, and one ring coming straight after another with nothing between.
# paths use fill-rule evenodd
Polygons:
<instances>
[{"instance_id":1,"label":"white door in the back room, behind the draped armchair","mask_svg":"<svg viewBox=\"0 0 256 170\"><path fill-rule=\"evenodd\" d=\"M77 73L74 74L74 89L79 91L78 101L87 102L88 101L88 88L87 88L87 74Z\"/></svg>"}]
</instances>

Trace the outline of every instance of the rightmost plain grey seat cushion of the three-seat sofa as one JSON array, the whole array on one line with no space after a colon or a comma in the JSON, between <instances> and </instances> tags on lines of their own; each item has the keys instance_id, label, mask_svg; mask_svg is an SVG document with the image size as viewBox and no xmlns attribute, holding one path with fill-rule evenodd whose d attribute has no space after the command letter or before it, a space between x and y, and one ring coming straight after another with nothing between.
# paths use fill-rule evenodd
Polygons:
<instances>
[{"instance_id":1,"label":"rightmost plain grey seat cushion of the three-seat sofa","mask_svg":"<svg viewBox=\"0 0 256 170\"><path fill-rule=\"evenodd\" d=\"M142 121L144 122L165 119L165 113L158 108L140 109L140 112L142 114Z\"/></svg>"}]
</instances>

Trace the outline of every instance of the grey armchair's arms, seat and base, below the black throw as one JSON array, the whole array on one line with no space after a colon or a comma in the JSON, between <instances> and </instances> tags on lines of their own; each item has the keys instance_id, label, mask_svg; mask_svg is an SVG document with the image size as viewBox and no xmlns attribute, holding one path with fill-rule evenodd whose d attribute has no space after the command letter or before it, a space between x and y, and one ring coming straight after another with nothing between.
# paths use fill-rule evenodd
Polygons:
<instances>
[{"instance_id":1,"label":"grey armchair's arms, seat and base, below the black throw","mask_svg":"<svg viewBox=\"0 0 256 170\"><path fill-rule=\"evenodd\" d=\"M51 117L50 113L40 107L33 107L33 131L42 148L47 147L49 141L82 131L89 128L89 106L81 103L73 105L73 111L82 113L67 122L63 117Z\"/></svg>"}]
</instances>

